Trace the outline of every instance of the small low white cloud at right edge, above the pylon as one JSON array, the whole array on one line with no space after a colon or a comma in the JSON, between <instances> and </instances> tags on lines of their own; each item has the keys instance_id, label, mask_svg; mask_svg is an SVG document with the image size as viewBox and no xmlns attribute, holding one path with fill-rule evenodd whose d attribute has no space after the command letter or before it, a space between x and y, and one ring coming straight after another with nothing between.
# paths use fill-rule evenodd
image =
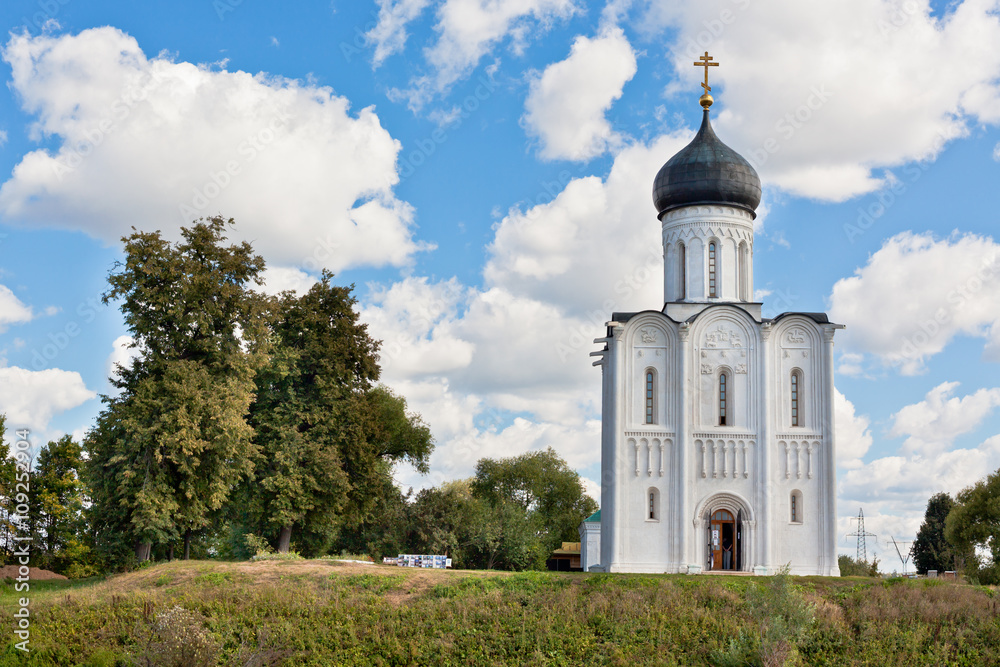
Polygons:
<instances>
[{"instance_id":1,"label":"small low white cloud at right edge, above the pylon","mask_svg":"<svg viewBox=\"0 0 1000 667\"><path fill-rule=\"evenodd\" d=\"M958 398L954 396L958 384L939 384L927 392L924 400L894 415L889 436L906 436L902 453L924 457L941 454L957 436L975 431L1000 406L1000 389L980 389Z\"/></svg>"}]
</instances>

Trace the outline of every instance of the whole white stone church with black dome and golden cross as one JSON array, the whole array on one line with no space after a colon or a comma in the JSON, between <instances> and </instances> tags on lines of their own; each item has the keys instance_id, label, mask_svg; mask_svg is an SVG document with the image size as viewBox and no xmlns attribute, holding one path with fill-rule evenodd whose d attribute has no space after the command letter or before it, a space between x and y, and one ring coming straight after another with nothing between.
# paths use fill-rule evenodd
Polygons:
<instances>
[{"instance_id":1,"label":"whole white stone church with black dome and golden cross","mask_svg":"<svg viewBox=\"0 0 1000 667\"><path fill-rule=\"evenodd\" d=\"M760 179L709 120L660 169L664 305L614 313L602 374L601 510L585 571L838 576L833 336L753 300Z\"/></svg>"}]
</instances>

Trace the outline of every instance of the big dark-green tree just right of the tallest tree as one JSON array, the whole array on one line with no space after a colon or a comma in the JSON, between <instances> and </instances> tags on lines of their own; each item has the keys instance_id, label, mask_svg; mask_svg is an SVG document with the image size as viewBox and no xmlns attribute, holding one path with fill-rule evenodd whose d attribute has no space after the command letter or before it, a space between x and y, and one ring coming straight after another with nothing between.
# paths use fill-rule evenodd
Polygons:
<instances>
[{"instance_id":1,"label":"big dark-green tree just right of the tallest tree","mask_svg":"<svg viewBox=\"0 0 1000 667\"><path fill-rule=\"evenodd\" d=\"M342 527L370 521L391 486L392 466L426 471L429 429L378 380L378 343L358 321L350 287L332 274L301 297L272 302L273 354L256 376L250 423L257 473L243 496L257 530L277 533L279 552L293 531L307 553L329 547Z\"/></svg>"}]
</instances>

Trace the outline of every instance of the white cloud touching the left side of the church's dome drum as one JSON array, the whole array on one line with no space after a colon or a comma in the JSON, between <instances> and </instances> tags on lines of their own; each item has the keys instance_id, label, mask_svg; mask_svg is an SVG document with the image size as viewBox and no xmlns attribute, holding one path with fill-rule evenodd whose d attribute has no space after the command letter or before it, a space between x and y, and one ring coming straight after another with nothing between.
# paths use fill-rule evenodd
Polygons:
<instances>
[{"instance_id":1,"label":"white cloud touching the left side of the church's dome drum","mask_svg":"<svg viewBox=\"0 0 1000 667\"><path fill-rule=\"evenodd\" d=\"M499 223L484 269L489 285L558 304L586 319L590 335L615 310L663 303L663 246L650 195L652 175L691 133L635 144L596 176L543 184L541 203L514 208ZM586 338L586 336L584 336Z\"/></svg>"}]
</instances>

